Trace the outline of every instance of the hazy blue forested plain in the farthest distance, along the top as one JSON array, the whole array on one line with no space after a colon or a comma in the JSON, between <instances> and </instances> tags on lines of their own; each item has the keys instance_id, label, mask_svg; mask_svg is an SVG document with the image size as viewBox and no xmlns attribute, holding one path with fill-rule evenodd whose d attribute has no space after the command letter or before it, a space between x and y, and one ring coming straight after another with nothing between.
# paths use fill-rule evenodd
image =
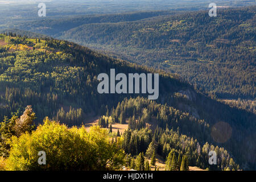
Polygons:
<instances>
[{"instance_id":1,"label":"hazy blue forested plain in the farthest distance, along the top","mask_svg":"<svg viewBox=\"0 0 256 182\"><path fill-rule=\"evenodd\" d=\"M39 1L34 0L3 0L0 2L0 29L14 28L16 24L27 21L51 19L73 19L74 16L84 15L106 15L120 14L135 11L152 10L201 10L205 9L211 1L188 0L188 1L169 1L169 0L51 0L46 1L47 18L38 16ZM250 0L215 0L220 6L241 7L254 5ZM145 6L146 5L146 6ZM86 22L84 22L86 23ZM72 24L67 24L68 26ZM50 28L50 27L46 27Z\"/></svg>"}]
</instances>

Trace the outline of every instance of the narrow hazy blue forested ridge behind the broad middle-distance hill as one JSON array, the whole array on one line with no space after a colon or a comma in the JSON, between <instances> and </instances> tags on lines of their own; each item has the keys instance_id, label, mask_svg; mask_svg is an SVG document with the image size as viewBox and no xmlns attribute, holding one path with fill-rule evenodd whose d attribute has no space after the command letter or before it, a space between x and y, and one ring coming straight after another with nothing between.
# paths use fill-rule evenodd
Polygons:
<instances>
[{"instance_id":1,"label":"narrow hazy blue forested ridge behind the broad middle-distance hill","mask_svg":"<svg viewBox=\"0 0 256 182\"><path fill-rule=\"evenodd\" d=\"M64 31L79 27L82 24L130 22L154 16L171 14L175 14L175 11L142 11L126 14L80 15L75 17L71 16L70 18L44 19L39 21L34 20L32 22L24 22L13 26L21 30L29 30L38 33L41 32L46 35L58 37L62 35Z\"/></svg>"}]
</instances>

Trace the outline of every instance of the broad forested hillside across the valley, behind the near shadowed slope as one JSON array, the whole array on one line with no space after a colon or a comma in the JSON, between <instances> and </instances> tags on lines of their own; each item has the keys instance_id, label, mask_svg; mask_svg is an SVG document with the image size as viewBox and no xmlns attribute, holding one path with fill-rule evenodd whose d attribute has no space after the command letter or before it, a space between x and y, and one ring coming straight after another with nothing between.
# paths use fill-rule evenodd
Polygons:
<instances>
[{"instance_id":1,"label":"broad forested hillside across the valley, behind the near shadowed slope","mask_svg":"<svg viewBox=\"0 0 256 182\"><path fill-rule=\"evenodd\" d=\"M255 6L218 9L217 17L209 17L208 11L165 13L92 16L59 23L49 19L18 28L178 73L201 92L218 98L255 98Z\"/></svg>"}]
</instances>

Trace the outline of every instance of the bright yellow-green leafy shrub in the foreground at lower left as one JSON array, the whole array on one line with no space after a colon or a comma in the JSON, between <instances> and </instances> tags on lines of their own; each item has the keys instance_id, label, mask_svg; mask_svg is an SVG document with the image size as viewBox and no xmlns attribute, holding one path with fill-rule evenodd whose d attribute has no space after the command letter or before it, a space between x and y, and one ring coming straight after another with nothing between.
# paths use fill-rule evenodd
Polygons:
<instances>
[{"instance_id":1,"label":"bright yellow-green leafy shrub in the foreground at lower left","mask_svg":"<svg viewBox=\"0 0 256 182\"><path fill-rule=\"evenodd\" d=\"M125 154L117 143L110 144L108 132L92 127L68 128L46 119L32 134L11 139L9 170L107 170L123 166ZM39 151L46 152L40 165Z\"/></svg>"}]
</instances>

